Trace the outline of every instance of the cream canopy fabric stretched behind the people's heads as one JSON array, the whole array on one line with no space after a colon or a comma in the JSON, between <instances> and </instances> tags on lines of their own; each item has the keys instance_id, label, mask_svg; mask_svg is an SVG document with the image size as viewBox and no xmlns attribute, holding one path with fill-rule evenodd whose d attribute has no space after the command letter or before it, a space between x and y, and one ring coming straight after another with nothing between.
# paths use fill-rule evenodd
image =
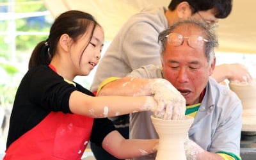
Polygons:
<instances>
[{"instance_id":1,"label":"cream canopy fabric stretched behind the people's heads","mask_svg":"<svg viewBox=\"0 0 256 160\"><path fill-rule=\"evenodd\" d=\"M168 6L170 0L44 0L54 17L67 10L91 13L102 25L107 40L119 31L124 22L141 8L154 4ZM233 0L232 13L221 19L218 27L219 52L256 53L256 1Z\"/></svg>"}]
</instances>

